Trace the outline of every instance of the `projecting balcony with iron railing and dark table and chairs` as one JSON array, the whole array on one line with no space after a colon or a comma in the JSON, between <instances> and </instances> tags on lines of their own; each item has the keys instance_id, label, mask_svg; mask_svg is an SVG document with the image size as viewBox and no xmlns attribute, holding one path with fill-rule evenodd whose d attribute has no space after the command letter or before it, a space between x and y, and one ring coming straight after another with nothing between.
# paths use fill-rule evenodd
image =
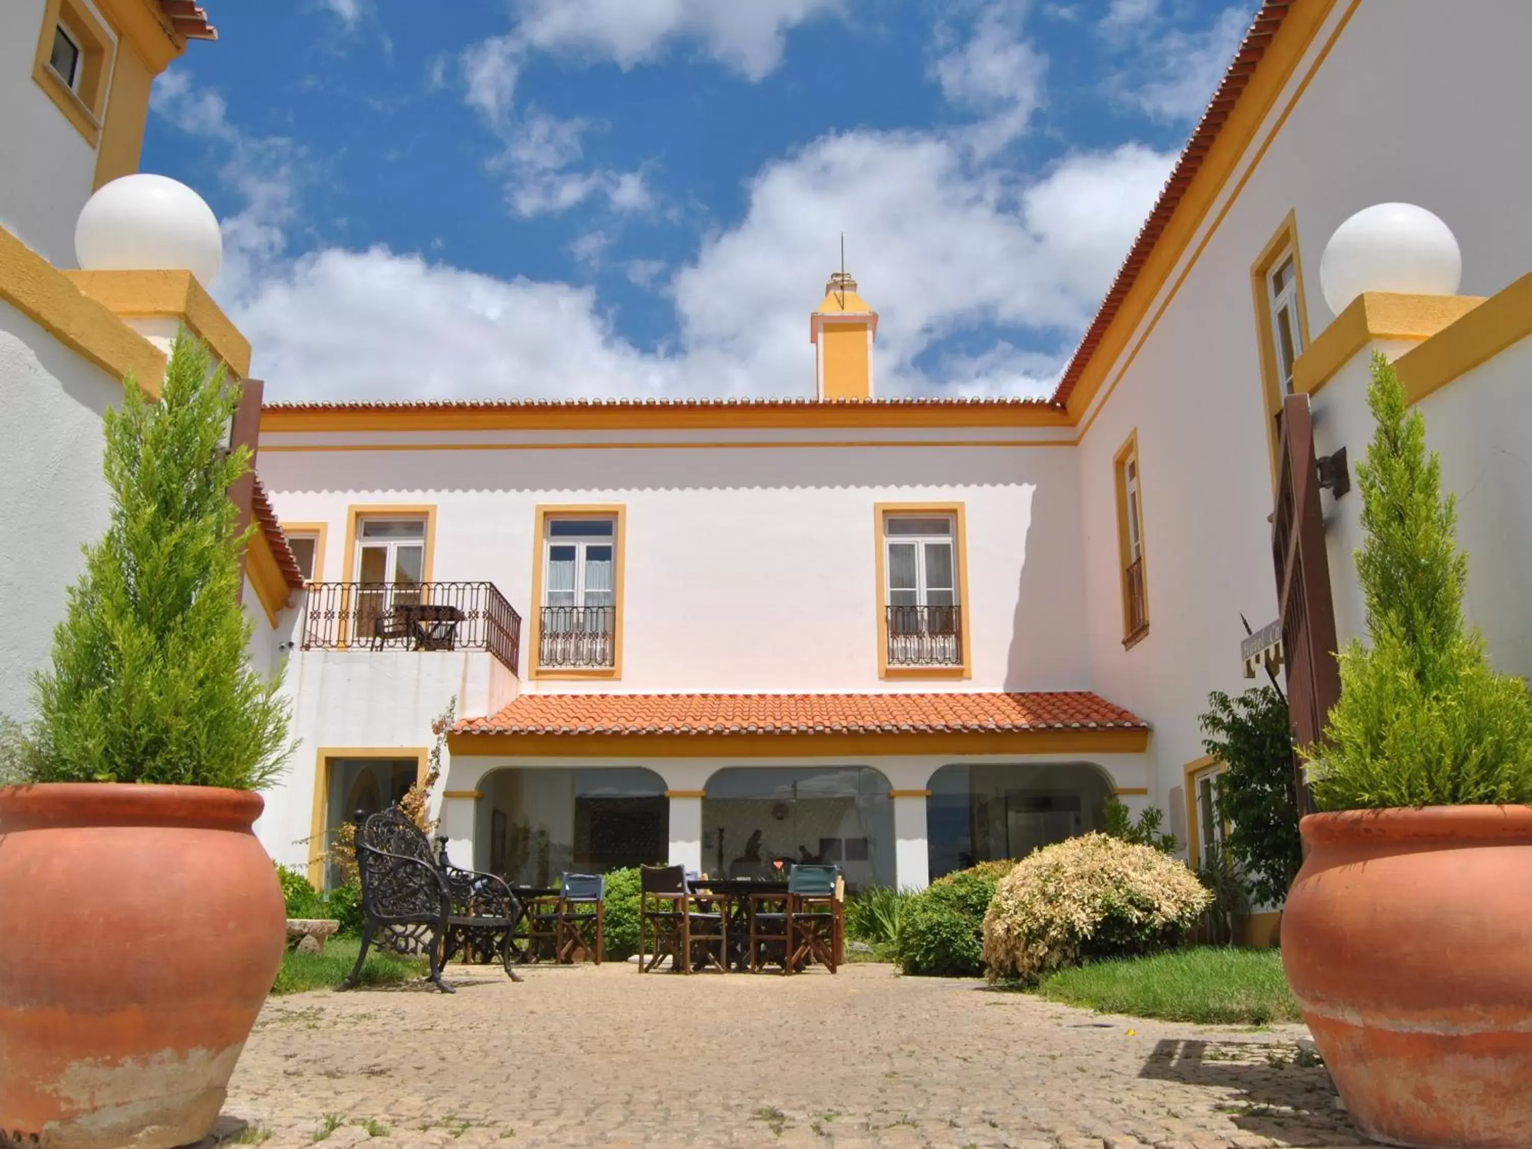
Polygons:
<instances>
[{"instance_id":1,"label":"projecting balcony with iron railing and dark table and chairs","mask_svg":"<svg viewBox=\"0 0 1532 1149\"><path fill-rule=\"evenodd\" d=\"M521 616L493 582L311 582L303 650L483 650L519 674Z\"/></svg>"}]
</instances>

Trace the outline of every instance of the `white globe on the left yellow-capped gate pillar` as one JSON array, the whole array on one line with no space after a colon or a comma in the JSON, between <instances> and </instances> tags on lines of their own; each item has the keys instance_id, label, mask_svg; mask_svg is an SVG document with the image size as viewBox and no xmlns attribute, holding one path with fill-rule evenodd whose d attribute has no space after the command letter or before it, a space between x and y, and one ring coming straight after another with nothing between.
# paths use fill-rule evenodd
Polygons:
<instances>
[{"instance_id":1,"label":"white globe on the left yellow-capped gate pillar","mask_svg":"<svg viewBox=\"0 0 1532 1149\"><path fill-rule=\"evenodd\" d=\"M75 222L84 271L190 271L210 290L224 262L218 216L169 176L132 175L97 188Z\"/></svg>"}]
</instances>

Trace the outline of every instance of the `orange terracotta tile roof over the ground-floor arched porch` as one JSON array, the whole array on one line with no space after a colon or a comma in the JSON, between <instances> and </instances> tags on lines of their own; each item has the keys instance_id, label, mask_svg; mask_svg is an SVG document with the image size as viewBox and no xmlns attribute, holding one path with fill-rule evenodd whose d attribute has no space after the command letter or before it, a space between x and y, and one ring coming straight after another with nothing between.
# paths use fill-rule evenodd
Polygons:
<instances>
[{"instance_id":1,"label":"orange terracotta tile roof over the ground-floor arched porch","mask_svg":"<svg viewBox=\"0 0 1532 1149\"><path fill-rule=\"evenodd\" d=\"M1149 729L1089 691L1037 694L522 694L458 734L954 734Z\"/></svg>"}]
</instances>

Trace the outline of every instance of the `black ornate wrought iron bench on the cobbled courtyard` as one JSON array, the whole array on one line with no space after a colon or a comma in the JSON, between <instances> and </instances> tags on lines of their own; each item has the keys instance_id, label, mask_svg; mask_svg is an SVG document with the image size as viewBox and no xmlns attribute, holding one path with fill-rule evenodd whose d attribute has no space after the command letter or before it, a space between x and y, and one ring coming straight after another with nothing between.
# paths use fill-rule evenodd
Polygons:
<instances>
[{"instance_id":1,"label":"black ornate wrought iron bench on the cobbled courtyard","mask_svg":"<svg viewBox=\"0 0 1532 1149\"><path fill-rule=\"evenodd\" d=\"M464 958L499 959L513 982L512 938L521 919L521 902L492 873L463 870L435 856L420 827L392 806L363 821L357 810L357 870L362 876L362 951L345 985L357 984L368 950L377 947L404 956L424 954L429 980L453 993L441 980L441 967L460 950Z\"/></svg>"}]
</instances>

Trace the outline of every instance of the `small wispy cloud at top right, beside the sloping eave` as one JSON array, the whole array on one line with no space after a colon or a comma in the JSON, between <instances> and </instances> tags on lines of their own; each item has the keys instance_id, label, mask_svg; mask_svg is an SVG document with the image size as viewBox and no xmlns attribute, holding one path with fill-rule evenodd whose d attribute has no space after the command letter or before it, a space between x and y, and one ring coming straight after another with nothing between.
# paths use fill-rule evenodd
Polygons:
<instances>
[{"instance_id":1,"label":"small wispy cloud at top right, beside the sloping eave","mask_svg":"<svg viewBox=\"0 0 1532 1149\"><path fill-rule=\"evenodd\" d=\"M1100 29L1123 52L1124 66L1108 90L1163 123L1196 119L1249 26L1250 11L1242 6L1189 29L1177 26L1158 0L1112 0Z\"/></svg>"}]
</instances>

